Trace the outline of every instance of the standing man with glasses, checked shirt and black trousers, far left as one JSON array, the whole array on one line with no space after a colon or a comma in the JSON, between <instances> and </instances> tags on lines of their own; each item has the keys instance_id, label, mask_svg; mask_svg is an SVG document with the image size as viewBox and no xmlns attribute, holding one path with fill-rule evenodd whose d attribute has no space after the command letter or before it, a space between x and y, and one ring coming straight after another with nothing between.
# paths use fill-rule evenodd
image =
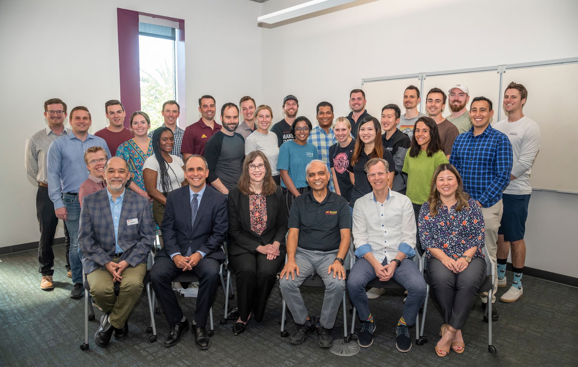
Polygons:
<instances>
[{"instance_id":1,"label":"standing man with glasses, checked shirt and black trousers, far left","mask_svg":"<svg viewBox=\"0 0 578 367\"><path fill-rule=\"evenodd\" d=\"M54 204L48 194L48 170L46 157L50 144L58 138L65 137L72 133L71 129L64 127L66 104L60 98L50 98L44 102L44 117L48 126L30 135L24 149L24 166L28 178L38 184L36 192L36 218L40 224L40 240L38 241L38 262L40 263L38 272L42 274L40 289L50 291L54 289L54 236L58 226L58 217L54 213ZM64 236L66 244L66 275L71 278L71 266L68 259L68 249L70 247L70 237L66 223L64 225Z\"/></svg>"}]
</instances>

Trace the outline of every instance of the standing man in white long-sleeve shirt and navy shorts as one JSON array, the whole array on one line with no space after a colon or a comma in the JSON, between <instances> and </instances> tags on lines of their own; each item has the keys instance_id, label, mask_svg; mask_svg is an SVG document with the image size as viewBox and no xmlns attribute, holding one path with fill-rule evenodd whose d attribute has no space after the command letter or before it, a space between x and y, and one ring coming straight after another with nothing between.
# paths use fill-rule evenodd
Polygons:
<instances>
[{"instance_id":1,"label":"standing man in white long-sleeve shirt and navy shorts","mask_svg":"<svg viewBox=\"0 0 578 367\"><path fill-rule=\"evenodd\" d=\"M498 230L498 287L507 287L506 260L512 247L514 279L512 286L500 298L502 302L516 302L523 293L522 275L526 257L524 232L532 186L530 172L540 150L540 127L524 116L528 91L521 84L510 83L504 93L504 109L508 116L495 124L494 129L506 134L513 151L510 184L503 192L503 215Z\"/></svg>"}]
</instances>

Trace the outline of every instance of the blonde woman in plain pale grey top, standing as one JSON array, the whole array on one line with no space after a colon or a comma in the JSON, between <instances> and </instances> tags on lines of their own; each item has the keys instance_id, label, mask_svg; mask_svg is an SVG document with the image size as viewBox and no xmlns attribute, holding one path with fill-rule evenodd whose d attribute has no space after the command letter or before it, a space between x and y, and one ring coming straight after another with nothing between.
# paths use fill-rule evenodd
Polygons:
<instances>
[{"instance_id":1,"label":"blonde woman in plain pale grey top, standing","mask_svg":"<svg viewBox=\"0 0 578 367\"><path fill-rule=\"evenodd\" d=\"M281 185L281 177L277 167L277 157L279 157L279 144L277 135L269 132L269 126L273 120L273 111L268 105L260 105L255 110L257 116L257 130L245 140L245 156L253 151L261 151L265 154L272 168L273 181L277 186Z\"/></svg>"}]
</instances>

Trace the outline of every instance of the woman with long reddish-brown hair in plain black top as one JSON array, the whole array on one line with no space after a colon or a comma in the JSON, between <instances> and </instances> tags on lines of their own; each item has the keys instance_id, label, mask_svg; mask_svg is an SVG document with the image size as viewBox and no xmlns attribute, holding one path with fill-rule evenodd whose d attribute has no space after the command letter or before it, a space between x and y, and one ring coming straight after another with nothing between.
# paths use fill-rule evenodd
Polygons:
<instances>
[{"instance_id":1,"label":"woman with long reddish-brown hair in plain black top","mask_svg":"<svg viewBox=\"0 0 578 367\"><path fill-rule=\"evenodd\" d=\"M351 200L349 201L352 212L355 200L372 191L364 166L368 160L377 157L387 161L390 166L390 171L395 170L394 157L387 149L383 148L383 142L381 141L381 124L376 118L367 116L357 125L355 149L351 155L349 168L347 168L347 170L349 170L351 184L353 184ZM387 184L390 189L393 184L393 179L394 175L390 175Z\"/></svg>"}]
</instances>

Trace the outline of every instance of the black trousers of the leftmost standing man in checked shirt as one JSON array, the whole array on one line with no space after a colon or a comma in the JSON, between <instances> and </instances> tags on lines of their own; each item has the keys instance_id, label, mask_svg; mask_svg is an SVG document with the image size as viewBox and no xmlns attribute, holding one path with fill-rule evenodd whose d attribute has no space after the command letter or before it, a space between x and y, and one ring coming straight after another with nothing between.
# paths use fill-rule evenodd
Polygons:
<instances>
[{"instance_id":1,"label":"black trousers of the leftmost standing man in checked shirt","mask_svg":"<svg viewBox=\"0 0 578 367\"><path fill-rule=\"evenodd\" d=\"M38 272L42 276L51 276L54 274L54 236L58 226L58 218L54 212L54 203L50 200L48 189L38 185L36 192L36 218L40 225L40 240L38 241L38 262L40 266ZM64 221L63 221L64 223ZM66 244L66 270L70 270L70 260L68 258L68 249L71 246L71 240L68 236L68 229L64 223L64 236Z\"/></svg>"}]
</instances>

